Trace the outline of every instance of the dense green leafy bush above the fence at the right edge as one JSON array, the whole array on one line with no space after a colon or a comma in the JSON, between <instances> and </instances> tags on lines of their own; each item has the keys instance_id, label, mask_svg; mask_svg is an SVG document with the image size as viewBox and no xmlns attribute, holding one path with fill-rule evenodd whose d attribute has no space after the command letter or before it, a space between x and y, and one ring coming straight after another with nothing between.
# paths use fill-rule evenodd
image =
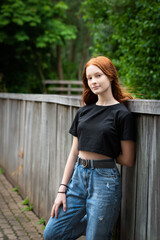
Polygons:
<instances>
[{"instance_id":1,"label":"dense green leafy bush above the fence at the right edge","mask_svg":"<svg viewBox=\"0 0 160 240\"><path fill-rule=\"evenodd\" d=\"M160 4L146 0L128 1L114 18L121 77L141 98L160 99L159 22Z\"/></svg>"}]
</instances>

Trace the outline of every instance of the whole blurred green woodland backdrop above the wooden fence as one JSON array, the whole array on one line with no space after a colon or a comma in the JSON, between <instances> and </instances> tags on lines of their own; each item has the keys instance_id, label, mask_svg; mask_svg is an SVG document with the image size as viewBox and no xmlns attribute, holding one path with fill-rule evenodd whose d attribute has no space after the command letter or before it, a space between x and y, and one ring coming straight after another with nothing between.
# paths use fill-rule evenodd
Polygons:
<instances>
[{"instance_id":1,"label":"whole blurred green woodland backdrop above the wooden fence","mask_svg":"<svg viewBox=\"0 0 160 240\"><path fill-rule=\"evenodd\" d=\"M160 99L159 52L159 0L0 1L0 92L55 93L45 80L81 81L105 55L134 97Z\"/></svg>"}]
</instances>

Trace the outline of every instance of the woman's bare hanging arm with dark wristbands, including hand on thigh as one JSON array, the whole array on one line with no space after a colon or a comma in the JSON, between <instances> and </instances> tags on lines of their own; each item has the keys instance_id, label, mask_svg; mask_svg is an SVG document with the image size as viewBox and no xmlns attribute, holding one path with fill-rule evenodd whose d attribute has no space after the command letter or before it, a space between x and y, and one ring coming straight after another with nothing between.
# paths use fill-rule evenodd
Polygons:
<instances>
[{"instance_id":1,"label":"woman's bare hanging arm with dark wristbands, including hand on thigh","mask_svg":"<svg viewBox=\"0 0 160 240\"><path fill-rule=\"evenodd\" d=\"M69 157L67 159L67 163L66 163L66 166L64 169L63 178L62 178L61 183L65 184L65 185L68 184L68 182L72 176L73 170L74 170L74 165L77 160L77 156L78 156L78 138L73 137L71 151L70 151ZM66 187L61 185L59 187L58 191L65 192L65 190L66 190ZM57 194L57 197L55 199L55 202L53 204L52 211L51 211L52 217L54 217L54 215L55 215L55 217L58 216L58 209L61 204L63 205L63 211L65 212L66 211L66 195L64 193Z\"/></svg>"}]
</instances>

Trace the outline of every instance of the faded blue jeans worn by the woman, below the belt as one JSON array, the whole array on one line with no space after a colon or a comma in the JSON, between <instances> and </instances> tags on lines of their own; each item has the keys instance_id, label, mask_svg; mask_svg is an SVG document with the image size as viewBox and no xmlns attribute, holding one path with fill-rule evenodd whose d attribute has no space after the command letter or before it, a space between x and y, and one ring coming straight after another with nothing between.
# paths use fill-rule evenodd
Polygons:
<instances>
[{"instance_id":1,"label":"faded blue jeans worn by the woman, below the belt","mask_svg":"<svg viewBox=\"0 0 160 240\"><path fill-rule=\"evenodd\" d=\"M85 169L76 163L67 189L67 211L50 218L45 240L110 240L121 202L121 177L114 168Z\"/></svg>"}]
</instances>

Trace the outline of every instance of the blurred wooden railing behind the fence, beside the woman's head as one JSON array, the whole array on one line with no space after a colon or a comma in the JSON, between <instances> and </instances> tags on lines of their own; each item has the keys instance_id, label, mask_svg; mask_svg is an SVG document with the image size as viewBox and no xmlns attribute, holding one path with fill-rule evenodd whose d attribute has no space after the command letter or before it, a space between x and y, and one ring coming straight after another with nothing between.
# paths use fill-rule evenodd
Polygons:
<instances>
[{"instance_id":1,"label":"blurred wooden railing behind the fence, beside the woman's head","mask_svg":"<svg viewBox=\"0 0 160 240\"><path fill-rule=\"evenodd\" d=\"M48 92L53 91L56 93L66 93L67 95L71 95L73 93L77 93L77 95L81 95L83 92L83 83L82 81L76 80L45 80L44 81L45 88Z\"/></svg>"}]
</instances>

